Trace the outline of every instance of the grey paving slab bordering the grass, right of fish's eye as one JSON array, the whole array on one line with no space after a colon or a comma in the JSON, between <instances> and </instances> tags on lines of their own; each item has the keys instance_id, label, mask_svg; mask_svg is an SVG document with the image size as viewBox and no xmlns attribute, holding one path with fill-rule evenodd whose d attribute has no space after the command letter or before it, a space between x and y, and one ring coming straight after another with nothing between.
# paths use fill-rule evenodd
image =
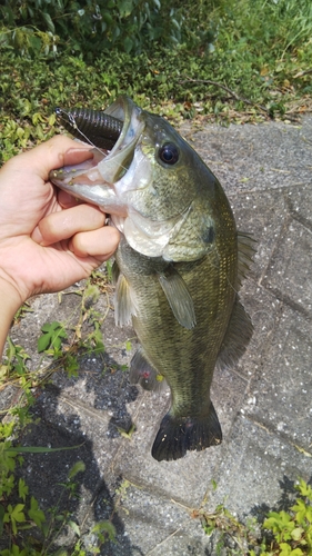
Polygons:
<instances>
[{"instance_id":1,"label":"grey paving slab bordering the grass, right of fish's eye","mask_svg":"<svg viewBox=\"0 0 312 556\"><path fill-rule=\"evenodd\" d=\"M274 189L311 181L312 125L182 126L187 140L215 173L227 193Z\"/></svg>"}]
</instances>

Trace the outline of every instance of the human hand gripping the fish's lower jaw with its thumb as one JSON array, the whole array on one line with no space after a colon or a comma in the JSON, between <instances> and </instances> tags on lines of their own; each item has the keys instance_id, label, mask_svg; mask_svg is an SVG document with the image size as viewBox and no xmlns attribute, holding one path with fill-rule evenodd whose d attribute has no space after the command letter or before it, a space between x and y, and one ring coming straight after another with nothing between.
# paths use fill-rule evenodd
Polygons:
<instances>
[{"instance_id":1,"label":"human hand gripping the fish's lower jaw with its thumb","mask_svg":"<svg viewBox=\"0 0 312 556\"><path fill-rule=\"evenodd\" d=\"M48 181L50 170L91 156L82 143L56 136L0 170L0 291L14 310L30 296L88 277L117 249L119 232L103 226L100 209Z\"/></svg>"}]
</instances>

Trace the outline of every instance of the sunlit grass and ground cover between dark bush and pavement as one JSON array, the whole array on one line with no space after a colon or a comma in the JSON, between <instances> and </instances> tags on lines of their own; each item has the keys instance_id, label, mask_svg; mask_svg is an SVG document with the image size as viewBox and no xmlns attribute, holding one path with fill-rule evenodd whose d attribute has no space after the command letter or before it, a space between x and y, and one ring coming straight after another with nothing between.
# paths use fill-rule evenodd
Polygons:
<instances>
[{"instance_id":1,"label":"sunlit grass and ground cover between dark bush and pavement","mask_svg":"<svg viewBox=\"0 0 312 556\"><path fill-rule=\"evenodd\" d=\"M89 63L68 51L31 58L3 48L2 159L52 136L56 106L103 109L120 93L174 122L292 120L311 110L310 0L202 0L188 9L181 43L139 54L103 51Z\"/></svg>"}]
</instances>

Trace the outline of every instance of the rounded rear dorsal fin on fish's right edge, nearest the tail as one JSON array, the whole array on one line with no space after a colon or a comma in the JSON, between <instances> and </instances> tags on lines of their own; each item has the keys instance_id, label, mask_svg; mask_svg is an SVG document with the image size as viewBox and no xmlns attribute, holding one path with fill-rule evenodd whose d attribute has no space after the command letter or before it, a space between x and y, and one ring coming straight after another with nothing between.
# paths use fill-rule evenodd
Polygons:
<instances>
[{"instance_id":1,"label":"rounded rear dorsal fin on fish's right edge, nearest the tail","mask_svg":"<svg viewBox=\"0 0 312 556\"><path fill-rule=\"evenodd\" d=\"M253 326L236 296L228 329L219 351L217 365L221 368L234 366L244 354L252 337Z\"/></svg>"}]
</instances>

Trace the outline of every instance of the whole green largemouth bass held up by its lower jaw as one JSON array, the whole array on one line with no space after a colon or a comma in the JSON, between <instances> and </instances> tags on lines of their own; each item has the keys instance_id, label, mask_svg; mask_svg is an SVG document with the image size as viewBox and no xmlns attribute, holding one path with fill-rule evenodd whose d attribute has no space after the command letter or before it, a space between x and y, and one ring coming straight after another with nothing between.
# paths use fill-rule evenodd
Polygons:
<instances>
[{"instance_id":1,"label":"whole green largemouth bass held up by its lower jaw","mask_svg":"<svg viewBox=\"0 0 312 556\"><path fill-rule=\"evenodd\" d=\"M112 149L97 145L104 130L92 130L93 158L50 179L99 206L121 234L115 324L131 324L138 337L131 384L169 385L151 454L177 460L222 441L210 389L214 369L235 365L253 332L239 289L254 240L236 230L217 177L169 121L125 96L105 110L110 117L122 122Z\"/></svg>"}]
</instances>

